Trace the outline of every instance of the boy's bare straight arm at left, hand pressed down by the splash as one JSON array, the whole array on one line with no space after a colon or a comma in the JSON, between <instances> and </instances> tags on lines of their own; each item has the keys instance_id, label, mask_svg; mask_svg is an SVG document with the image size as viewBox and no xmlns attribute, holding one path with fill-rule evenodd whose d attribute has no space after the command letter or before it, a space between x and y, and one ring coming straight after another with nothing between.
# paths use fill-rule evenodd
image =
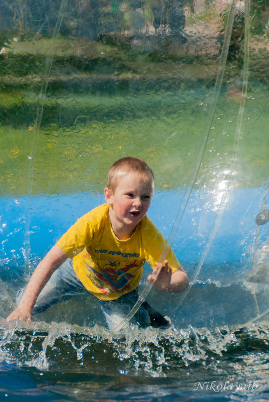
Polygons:
<instances>
[{"instance_id":1,"label":"boy's bare straight arm at left, hand pressed down by the splash","mask_svg":"<svg viewBox=\"0 0 269 402\"><path fill-rule=\"evenodd\" d=\"M7 321L11 320L27 320L31 321L32 311L37 298L51 278L54 271L67 259L67 255L56 244L38 264L34 274L32 275L25 293L18 305L18 309L14 310Z\"/></svg>"}]
</instances>

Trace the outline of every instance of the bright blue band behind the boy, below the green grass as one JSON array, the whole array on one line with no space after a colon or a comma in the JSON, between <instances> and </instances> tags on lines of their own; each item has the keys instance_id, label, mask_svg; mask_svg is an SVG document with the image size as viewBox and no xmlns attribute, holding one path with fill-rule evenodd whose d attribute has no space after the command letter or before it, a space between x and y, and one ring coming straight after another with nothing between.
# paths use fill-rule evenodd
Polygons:
<instances>
[{"instance_id":1,"label":"bright blue band behind the boy, below the green grass","mask_svg":"<svg viewBox=\"0 0 269 402\"><path fill-rule=\"evenodd\" d=\"M255 217L260 211L264 189L229 190L224 205L221 204L223 193L194 191L181 222L177 222L184 191L155 192L148 216L166 238L174 222L179 223L175 238L170 240L182 263L197 262L214 229L205 262L251 258ZM32 256L43 256L80 216L103 202L103 194L91 193L1 199L2 257L9 263L19 262L24 257L24 247L31 249ZM266 238L264 228L259 234L260 243Z\"/></svg>"}]
</instances>

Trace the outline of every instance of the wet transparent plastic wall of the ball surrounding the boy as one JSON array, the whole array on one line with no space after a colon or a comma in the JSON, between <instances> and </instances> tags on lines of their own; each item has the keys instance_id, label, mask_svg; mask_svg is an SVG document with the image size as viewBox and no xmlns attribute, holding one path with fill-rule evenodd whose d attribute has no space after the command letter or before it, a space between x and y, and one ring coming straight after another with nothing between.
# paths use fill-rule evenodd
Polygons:
<instances>
[{"instance_id":1,"label":"wet transparent plastic wall of the ball surrounding the boy","mask_svg":"<svg viewBox=\"0 0 269 402\"><path fill-rule=\"evenodd\" d=\"M208 30L204 38L199 19L186 22L190 11L179 3L160 20L156 10L148 17L149 5L143 11L115 6L115 13L93 7L87 15L94 21L96 12L100 24L88 31L82 9L60 3L54 19L50 8L49 20L35 10L40 25L31 26L31 38L9 35L2 52L7 74L1 141L8 159L2 181L1 315L14 308L22 277L29 278L59 236L103 202L109 166L136 155L156 176L149 216L172 244L191 286L179 295L159 295L148 287L145 267L134 311L147 297L178 326L259 317L267 308L267 284L250 283L247 275L267 238L267 227L257 236L255 223L267 182L267 120L265 106L260 108L266 97L261 81L247 92L248 41L244 56L241 49L233 56L229 49L235 2L219 14L226 16L226 25L219 20L222 33L217 27L213 37ZM247 38L248 30L246 25ZM211 49L204 47L208 39ZM208 62L212 57L215 62ZM232 69L225 76L227 57L236 60L235 76ZM19 67L22 60L29 74ZM60 310L54 314L55 320L63 317ZM97 315L87 313L87 324Z\"/></svg>"}]
</instances>

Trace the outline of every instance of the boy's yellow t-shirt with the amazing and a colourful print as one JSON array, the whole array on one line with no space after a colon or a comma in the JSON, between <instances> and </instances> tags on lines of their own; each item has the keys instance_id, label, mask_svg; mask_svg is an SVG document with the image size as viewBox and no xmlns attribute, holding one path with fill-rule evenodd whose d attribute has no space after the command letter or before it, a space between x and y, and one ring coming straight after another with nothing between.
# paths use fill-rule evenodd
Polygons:
<instances>
[{"instance_id":1,"label":"boy's yellow t-shirt with the amazing and a colourful print","mask_svg":"<svg viewBox=\"0 0 269 402\"><path fill-rule=\"evenodd\" d=\"M167 241L145 216L128 240L119 240L110 225L109 205L83 215L57 242L73 258L74 271L86 289L102 300L114 300L137 288L143 264L154 267L167 248L172 272L180 266Z\"/></svg>"}]
</instances>

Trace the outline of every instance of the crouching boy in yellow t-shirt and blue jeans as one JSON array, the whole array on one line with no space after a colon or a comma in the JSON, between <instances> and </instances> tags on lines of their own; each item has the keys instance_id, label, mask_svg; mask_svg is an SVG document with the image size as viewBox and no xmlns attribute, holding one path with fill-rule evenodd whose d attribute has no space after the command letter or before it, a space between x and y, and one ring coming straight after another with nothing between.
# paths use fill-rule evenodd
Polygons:
<instances>
[{"instance_id":1,"label":"crouching boy in yellow t-shirt and blue jeans","mask_svg":"<svg viewBox=\"0 0 269 402\"><path fill-rule=\"evenodd\" d=\"M138 300L137 286L145 261L153 267L148 281L161 292L188 287L188 277L161 233L146 216L154 192L154 175L139 158L115 162L108 172L106 204L82 216L37 266L17 296L18 309L7 320L31 320L62 300L90 292L98 298L113 330ZM157 264L163 250L167 259ZM142 327L167 325L144 302L133 317Z\"/></svg>"}]
</instances>

